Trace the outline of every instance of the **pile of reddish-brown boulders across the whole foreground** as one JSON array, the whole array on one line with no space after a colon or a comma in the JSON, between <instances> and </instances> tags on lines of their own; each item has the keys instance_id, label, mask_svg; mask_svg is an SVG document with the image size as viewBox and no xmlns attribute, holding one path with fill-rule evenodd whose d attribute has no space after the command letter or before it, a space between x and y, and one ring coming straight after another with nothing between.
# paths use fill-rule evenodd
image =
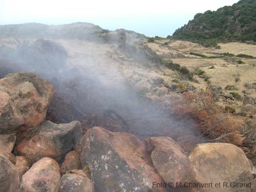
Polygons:
<instances>
[{"instance_id":1,"label":"pile of reddish-brown boulders across the whole foreground","mask_svg":"<svg viewBox=\"0 0 256 192\"><path fill-rule=\"evenodd\" d=\"M78 121L44 121L52 97L31 73L0 79L0 191L256 191L237 146L194 136L143 142L99 126L83 135Z\"/></svg>"}]
</instances>

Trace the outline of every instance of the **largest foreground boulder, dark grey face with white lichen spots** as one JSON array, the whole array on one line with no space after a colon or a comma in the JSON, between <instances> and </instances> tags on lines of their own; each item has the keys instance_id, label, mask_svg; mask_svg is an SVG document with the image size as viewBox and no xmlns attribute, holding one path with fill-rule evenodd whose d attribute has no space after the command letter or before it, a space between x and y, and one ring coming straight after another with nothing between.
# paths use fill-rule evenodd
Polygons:
<instances>
[{"instance_id":1,"label":"largest foreground boulder, dark grey face with white lichen spots","mask_svg":"<svg viewBox=\"0 0 256 192\"><path fill-rule=\"evenodd\" d=\"M153 182L163 181L135 135L93 127L81 145L82 166L91 168L95 191L164 191L152 187Z\"/></svg>"}]
</instances>

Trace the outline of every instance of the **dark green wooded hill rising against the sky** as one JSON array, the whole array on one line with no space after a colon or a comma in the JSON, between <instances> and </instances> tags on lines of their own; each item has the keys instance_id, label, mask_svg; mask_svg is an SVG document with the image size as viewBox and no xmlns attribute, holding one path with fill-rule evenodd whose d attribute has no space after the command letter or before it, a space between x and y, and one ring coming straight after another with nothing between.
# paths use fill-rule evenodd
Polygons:
<instances>
[{"instance_id":1,"label":"dark green wooded hill rising against the sky","mask_svg":"<svg viewBox=\"0 0 256 192\"><path fill-rule=\"evenodd\" d=\"M176 30L174 38L183 40L256 41L256 1L241 0L217 11L198 13L187 25Z\"/></svg>"}]
</instances>

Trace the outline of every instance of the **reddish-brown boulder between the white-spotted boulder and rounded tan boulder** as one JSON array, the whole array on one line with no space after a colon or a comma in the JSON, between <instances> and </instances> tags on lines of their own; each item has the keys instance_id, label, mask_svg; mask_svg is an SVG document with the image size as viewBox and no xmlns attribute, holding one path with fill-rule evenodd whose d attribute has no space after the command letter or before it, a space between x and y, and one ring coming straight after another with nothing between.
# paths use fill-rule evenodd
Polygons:
<instances>
[{"instance_id":1,"label":"reddish-brown boulder between the white-spotted boulder and rounded tan boulder","mask_svg":"<svg viewBox=\"0 0 256 192\"><path fill-rule=\"evenodd\" d=\"M185 152L172 138L150 137L145 143L154 167L166 183L195 181L195 173Z\"/></svg>"}]
</instances>

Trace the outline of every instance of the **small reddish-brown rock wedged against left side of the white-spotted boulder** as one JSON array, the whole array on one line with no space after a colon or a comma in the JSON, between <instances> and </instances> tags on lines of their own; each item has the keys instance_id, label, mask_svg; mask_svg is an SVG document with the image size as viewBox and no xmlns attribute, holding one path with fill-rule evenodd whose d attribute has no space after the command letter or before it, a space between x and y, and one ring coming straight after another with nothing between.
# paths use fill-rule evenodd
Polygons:
<instances>
[{"instance_id":1,"label":"small reddish-brown rock wedged against left side of the white-spotted boulder","mask_svg":"<svg viewBox=\"0 0 256 192\"><path fill-rule=\"evenodd\" d=\"M69 152L60 167L61 175L66 174L70 170L79 169L81 167L80 157L76 151Z\"/></svg>"}]
</instances>

